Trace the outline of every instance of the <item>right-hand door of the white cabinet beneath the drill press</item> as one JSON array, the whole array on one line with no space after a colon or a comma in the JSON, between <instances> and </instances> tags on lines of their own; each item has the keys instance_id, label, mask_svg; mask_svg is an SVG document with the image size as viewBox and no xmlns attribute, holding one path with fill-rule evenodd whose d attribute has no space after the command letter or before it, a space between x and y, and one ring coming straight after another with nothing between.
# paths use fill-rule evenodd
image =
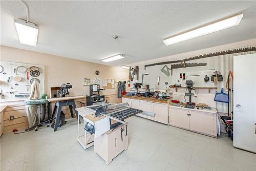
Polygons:
<instances>
[{"instance_id":1,"label":"right-hand door of the white cabinet beneath the drill press","mask_svg":"<svg viewBox=\"0 0 256 171\"><path fill-rule=\"evenodd\" d=\"M217 122L214 114L198 111L189 111L189 114L190 130L215 135L214 123L217 124Z\"/></svg>"}]
</instances>

